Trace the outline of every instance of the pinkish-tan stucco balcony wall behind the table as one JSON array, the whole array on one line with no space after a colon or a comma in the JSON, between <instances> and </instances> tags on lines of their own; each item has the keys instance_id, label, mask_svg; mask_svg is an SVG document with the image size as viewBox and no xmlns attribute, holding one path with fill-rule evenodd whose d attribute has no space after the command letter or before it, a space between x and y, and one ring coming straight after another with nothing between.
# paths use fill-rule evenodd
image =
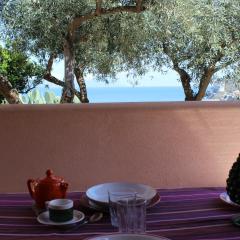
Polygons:
<instances>
[{"instance_id":1,"label":"pinkish-tan stucco balcony wall behind the table","mask_svg":"<svg viewBox=\"0 0 240 240\"><path fill-rule=\"evenodd\" d=\"M0 192L51 168L70 190L128 181L225 186L240 152L240 104L0 106Z\"/></svg>"}]
</instances>

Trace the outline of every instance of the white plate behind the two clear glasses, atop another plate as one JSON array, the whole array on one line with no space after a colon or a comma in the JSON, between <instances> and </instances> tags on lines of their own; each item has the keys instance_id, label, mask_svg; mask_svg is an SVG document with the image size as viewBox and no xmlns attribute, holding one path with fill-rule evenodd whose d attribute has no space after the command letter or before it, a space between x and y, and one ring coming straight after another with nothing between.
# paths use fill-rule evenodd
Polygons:
<instances>
[{"instance_id":1,"label":"white plate behind the two clear glasses, atop another plate","mask_svg":"<svg viewBox=\"0 0 240 240\"><path fill-rule=\"evenodd\" d=\"M104 183L95 185L89 188L86 192L86 195L89 199L100 202L108 203L108 191L133 191L140 195L142 198L147 201L151 200L156 194L157 191L150 186L143 184L135 183Z\"/></svg>"}]
</instances>

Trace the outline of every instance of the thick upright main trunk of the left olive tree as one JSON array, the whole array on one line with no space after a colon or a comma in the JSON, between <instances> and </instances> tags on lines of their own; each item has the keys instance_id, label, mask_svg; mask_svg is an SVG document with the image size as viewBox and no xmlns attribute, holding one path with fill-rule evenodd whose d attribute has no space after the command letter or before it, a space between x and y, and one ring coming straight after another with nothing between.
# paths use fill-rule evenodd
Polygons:
<instances>
[{"instance_id":1,"label":"thick upright main trunk of the left olive tree","mask_svg":"<svg viewBox=\"0 0 240 240\"><path fill-rule=\"evenodd\" d=\"M64 80L65 87L62 91L61 103L73 103L74 98L74 67L75 67L75 56L73 52L72 41L68 38L64 43Z\"/></svg>"}]
</instances>

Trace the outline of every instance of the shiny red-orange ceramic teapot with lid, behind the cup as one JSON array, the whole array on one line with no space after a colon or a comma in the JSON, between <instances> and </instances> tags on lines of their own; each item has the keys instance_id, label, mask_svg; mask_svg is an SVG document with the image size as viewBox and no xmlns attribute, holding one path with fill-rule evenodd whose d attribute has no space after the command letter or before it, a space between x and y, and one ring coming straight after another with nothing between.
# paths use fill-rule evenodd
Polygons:
<instances>
[{"instance_id":1,"label":"shiny red-orange ceramic teapot with lid, behind the cup","mask_svg":"<svg viewBox=\"0 0 240 240\"><path fill-rule=\"evenodd\" d=\"M56 198L65 198L68 183L63 178L53 175L48 169L44 179L28 179L27 186L31 197L36 202L36 207L45 208L45 202Z\"/></svg>"}]
</instances>

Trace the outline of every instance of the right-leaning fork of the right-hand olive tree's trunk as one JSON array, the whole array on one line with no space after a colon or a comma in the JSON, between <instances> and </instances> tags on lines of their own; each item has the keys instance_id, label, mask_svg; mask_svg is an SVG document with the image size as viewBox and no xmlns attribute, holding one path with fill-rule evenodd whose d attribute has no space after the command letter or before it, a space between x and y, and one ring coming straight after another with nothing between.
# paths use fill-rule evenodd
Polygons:
<instances>
[{"instance_id":1,"label":"right-leaning fork of the right-hand olive tree's trunk","mask_svg":"<svg viewBox=\"0 0 240 240\"><path fill-rule=\"evenodd\" d=\"M196 95L197 101L201 101L204 98L208 85L211 82L214 73L215 73L214 68L209 68L205 71L205 74L202 76L199 84L198 94Z\"/></svg>"}]
</instances>

